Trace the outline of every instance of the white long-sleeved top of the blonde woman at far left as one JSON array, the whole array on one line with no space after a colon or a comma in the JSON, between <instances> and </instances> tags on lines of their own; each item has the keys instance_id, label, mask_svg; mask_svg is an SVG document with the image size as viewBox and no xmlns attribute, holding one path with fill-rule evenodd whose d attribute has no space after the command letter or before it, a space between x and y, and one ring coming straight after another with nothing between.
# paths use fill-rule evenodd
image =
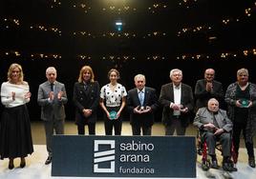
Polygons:
<instances>
[{"instance_id":1,"label":"white long-sleeved top of the blonde woman at far left","mask_svg":"<svg viewBox=\"0 0 256 179\"><path fill-rule=\"evenodd\" d=\"M4 82L1 86L1 102L6 108L13 108L30 102L30 98L25 99L25 94L30 91L29 85L15 85ZM15 92L15 99L12 99L11 92Z\"/></svg>"}]
</instances>

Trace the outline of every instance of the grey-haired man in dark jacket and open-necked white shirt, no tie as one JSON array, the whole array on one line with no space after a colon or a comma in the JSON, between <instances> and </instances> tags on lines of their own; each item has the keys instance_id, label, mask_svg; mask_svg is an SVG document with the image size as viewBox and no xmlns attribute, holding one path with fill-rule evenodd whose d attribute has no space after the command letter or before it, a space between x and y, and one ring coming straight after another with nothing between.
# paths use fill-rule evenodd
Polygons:
<instances>
[{"instance_id":1,"label":"grey-haired man in dark jacket and open-necked white shirt, no tie","mask_svg":"<svg viewBox=\"0 0 256 179\"><path fill-rule=\"evenodd\" d=\"M190 86L181 83L182 71L170 71L171 83L161 86L160 105L165 135L184 135L189 125L191 111L194 107L193 92Z\"/></svg>"}]
</instances>

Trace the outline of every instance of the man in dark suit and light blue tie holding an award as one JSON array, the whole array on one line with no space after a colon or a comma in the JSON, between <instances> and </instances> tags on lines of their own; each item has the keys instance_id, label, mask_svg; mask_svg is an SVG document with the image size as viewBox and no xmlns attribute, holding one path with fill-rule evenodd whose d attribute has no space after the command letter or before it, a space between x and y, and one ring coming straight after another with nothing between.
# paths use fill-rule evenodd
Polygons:
<instances>
[{"instance_id":1,"label":"man in dark suit and light blue tie holding an award","mask_svg":"<svg viewBox=\"0 0 256 179\"><path fill-rule=\"evenodd\" d=\"M136 88L129 90L127 95L133 135L140 135L140 129L143 135L151 135L154 112L159 107L156 89L145 87L143 74L137 74L134 81Z\"/></svg>"}]
</instances>

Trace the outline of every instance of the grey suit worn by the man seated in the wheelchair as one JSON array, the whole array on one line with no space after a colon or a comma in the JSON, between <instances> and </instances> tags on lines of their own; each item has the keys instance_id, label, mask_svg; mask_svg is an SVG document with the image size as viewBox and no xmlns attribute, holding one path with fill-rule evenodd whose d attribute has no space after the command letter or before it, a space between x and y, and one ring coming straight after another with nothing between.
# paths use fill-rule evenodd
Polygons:
<instances>
[{"instance_id":1,"label":"grey suit worn by the man seated in the wheelchair","mask_svg":"<svg viewBox=\"0 0 256 179\"><path fill-rule=\"evenodd\" d=\"M224 129L224 133L216 136L214 135L214 131L212 129L203 128L203 125L208 123L216 124L217 128ZM232 130L233 125L228 119L224 109L219 109L218 112L213 113L207 108L201 108L198 110L193 124L203 131L203 137L206 140L208 153L210 155L215 155L216 141L220 140L223 148L223 155L230 156L230 131Z\"/></svg>"}]
</instances>

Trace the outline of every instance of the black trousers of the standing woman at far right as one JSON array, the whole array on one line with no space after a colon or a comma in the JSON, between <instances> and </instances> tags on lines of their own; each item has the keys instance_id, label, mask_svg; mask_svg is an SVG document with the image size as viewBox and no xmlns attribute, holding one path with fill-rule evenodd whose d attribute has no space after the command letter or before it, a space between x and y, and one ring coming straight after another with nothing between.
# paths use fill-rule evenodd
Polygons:
<instances>
[{"instance_id":1,"label":"black trousers of the standing woman at far right","mask_svg":"<svg viewBox=\"0 0 256 179\"><path fill-rule=\"evenodd\" d=\"M246 140L246 123L237 123L234 122L233 124L233 143L234 143L234 149L236 153L238 154L239 151L239 144L240 144L240 134L243 132L243 136ZM249 157L254 157L254 151L253 151L253 142L251 140L250 142L245 142L245 148L247 149L247 154Z\"/></svg>"}]
</instances>

